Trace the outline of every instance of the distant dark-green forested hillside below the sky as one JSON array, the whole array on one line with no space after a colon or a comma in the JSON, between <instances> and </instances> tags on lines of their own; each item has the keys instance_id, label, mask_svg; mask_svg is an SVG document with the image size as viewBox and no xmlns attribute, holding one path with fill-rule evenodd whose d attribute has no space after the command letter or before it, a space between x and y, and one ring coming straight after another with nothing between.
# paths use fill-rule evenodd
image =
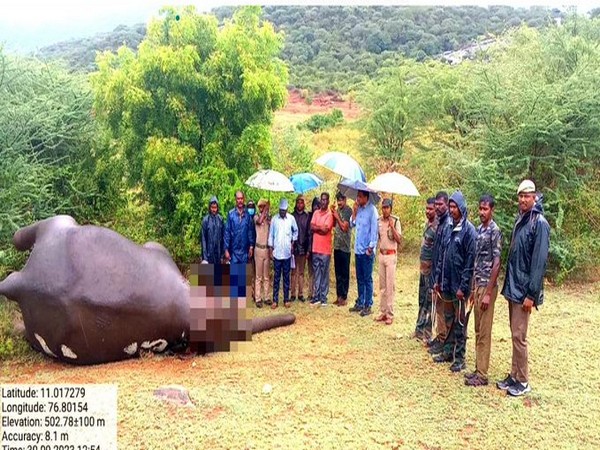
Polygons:
<instances>
[{"instance_id":1,"label":"distant dark-green forested hillside below the sky","mask_svg":"<svg viewBox=\"0 0 600 450\"><path fill-rule=\"evenodd\" d=\"M232 7L213 10L222 24ZM509 6L267 6L263 17L283 32L281 58L289 84L313 93L348 92L402 57L419 61L493 38L522 24L543 28L563 17L558 10ZM42 59L63 59L74 70L97 69L96 52L121 45L137 49L145 24L42 48Z\"/></svg>"}]
</instances>

